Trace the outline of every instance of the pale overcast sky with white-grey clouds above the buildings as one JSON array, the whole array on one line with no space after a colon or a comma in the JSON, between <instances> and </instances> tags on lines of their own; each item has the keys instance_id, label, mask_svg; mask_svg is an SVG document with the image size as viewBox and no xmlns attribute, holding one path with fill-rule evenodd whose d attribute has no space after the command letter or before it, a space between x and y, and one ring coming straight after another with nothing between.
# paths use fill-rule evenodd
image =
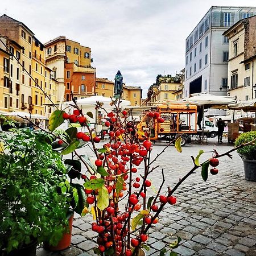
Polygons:
<instances>
[{"instance_id":1,"label":"pale overcast sky with white-grey clouds above the buildings","mask_svg":"<svg viewBox=\"0 0 256 256\"><path fill-rule=\"evenodd\" d=\"M8 0L0 15L26 24L42 43L63 35L92 49L97 77L120 69L143 97L156 75L184 68L185 38L210 6L256 6L255 0Z\"/></svg>"}]
</instances>

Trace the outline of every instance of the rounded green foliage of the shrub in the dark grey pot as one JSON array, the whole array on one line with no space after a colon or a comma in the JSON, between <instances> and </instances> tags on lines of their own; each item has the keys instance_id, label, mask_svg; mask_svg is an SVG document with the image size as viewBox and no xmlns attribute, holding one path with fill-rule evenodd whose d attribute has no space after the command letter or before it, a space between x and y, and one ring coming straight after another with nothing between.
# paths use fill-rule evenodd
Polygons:
<instances>
[{"instance_id":1,"label":"rounded green foliage of the shrub in the dark grey pot","mask_svg":"<svg viewBox=\"0 0 256 256\"><path fill-rule=\"evenodd\" d=\"M249 131L247 133L242 133L235 141L234 145L240 146L243 143L247 143L256 139L256 131ZM242 159L256 160L256 145L251 144L237 150L238 154Z\"/></svg>"}]
</instances>

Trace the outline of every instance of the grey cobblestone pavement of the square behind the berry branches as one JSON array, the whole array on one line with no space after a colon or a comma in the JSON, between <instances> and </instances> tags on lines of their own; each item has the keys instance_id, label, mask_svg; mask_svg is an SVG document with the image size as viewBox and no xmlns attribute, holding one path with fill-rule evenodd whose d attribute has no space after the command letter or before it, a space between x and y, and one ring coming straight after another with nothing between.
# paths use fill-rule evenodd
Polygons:
<instances>
[{"instance_id":1,"label":"grey cobblestone pavement of the square behind the berry branches","mask_svg":"<svg viewBox=\"0 0 256 256\"><path fill-rule=\"evenodd\" d=\"M166 185L171 187L193 167L191 155L200 149L219 154L232 148L228 144L188 144L179 153L174 146L167 148L155 165L159 168L151 176L154 186L159 187L164 168ZM163 149L163 144L154 146L154 154ZM201 161L211 153L203 154ZM256 183L246 181L242 160L236 152L233 159L224 156L218 166L218 175L209 175L207 182L197 170L177 190L177 204L167 205L159 223L151 230L146 255L159 255L159 250L172 242L172 235L182 238L176 251L179 255L256 255ZM153 193L153 192L152 192ZM37 256L87 256L94 255L97 233L90 229L91 216L75 216L72 247L60 253L49 253L39 248Z\"/></svg>"}]
</instances>

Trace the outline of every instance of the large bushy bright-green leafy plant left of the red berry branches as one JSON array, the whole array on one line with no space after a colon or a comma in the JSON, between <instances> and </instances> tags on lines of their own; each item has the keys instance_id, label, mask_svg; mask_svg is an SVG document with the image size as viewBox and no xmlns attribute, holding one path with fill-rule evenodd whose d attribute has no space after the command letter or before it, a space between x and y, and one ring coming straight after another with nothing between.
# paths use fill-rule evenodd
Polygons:
<instances>
[{"instance_id":1,"label":"large bushy bright-green leafy plant left of the red berry branches","mask_svg":"<svg viewBox=\"0 0 256 256\"><path fill-rule=\"evenodd\" d=\"M0 134L1 255L35 255L37 243L57 243L67 229L69 182L49 139L29 129Z\"/></svg>"}]
</instances>

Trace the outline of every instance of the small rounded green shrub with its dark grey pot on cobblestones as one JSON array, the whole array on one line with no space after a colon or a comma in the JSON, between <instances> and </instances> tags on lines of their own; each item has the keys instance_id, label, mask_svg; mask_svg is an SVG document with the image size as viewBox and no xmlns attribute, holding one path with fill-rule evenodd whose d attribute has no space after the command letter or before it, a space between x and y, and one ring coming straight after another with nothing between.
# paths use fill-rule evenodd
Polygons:
<instances>
[{"instance_id":1,"label":"small rounded green shrub with its dark grey pot on cobblestones","mask_svg":"<svg viewBox=\"0 0 256 256\"><path fill-rule=\"evenodd\" d=\"M235 141L234 145L236 147L241 144L246 144L248 142L256 139L256 131L249 131L247 133L242 133ZM250 181L256 181L256 145L248 144L237 150L238 154L243 160L243 169L245 171L245 179Z\"/></svg>"}]
</instances>

